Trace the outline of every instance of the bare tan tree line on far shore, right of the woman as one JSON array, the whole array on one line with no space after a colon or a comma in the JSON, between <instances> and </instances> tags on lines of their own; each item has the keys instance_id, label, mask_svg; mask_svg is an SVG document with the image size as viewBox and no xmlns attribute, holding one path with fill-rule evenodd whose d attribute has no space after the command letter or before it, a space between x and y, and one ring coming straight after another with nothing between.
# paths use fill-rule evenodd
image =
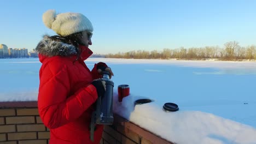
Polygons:
<instances>
[{"instance_id":1,"label":"bare tan tree line on far shore, right of the woman","mask_svg":"<svg viewBox=\"0 0 256 144\"><path fill-rule=\"evenodd\" d=\"M222 61L242 61L243 59L256 59L256 46L240 46L237 41L229 41L224 44L223 48L218 46L191 47L184 49L164 49L162 51L129 51L118 52L106 55L107 58L134 58L134 59L189 59L205 60L218 59Z\"/></svg>"}]
</instances>

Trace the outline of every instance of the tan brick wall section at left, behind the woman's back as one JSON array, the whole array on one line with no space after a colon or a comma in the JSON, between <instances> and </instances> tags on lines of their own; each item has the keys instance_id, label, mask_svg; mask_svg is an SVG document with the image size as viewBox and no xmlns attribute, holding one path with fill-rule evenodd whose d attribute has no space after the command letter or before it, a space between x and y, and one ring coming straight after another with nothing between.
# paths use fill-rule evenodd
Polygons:
<instances>
[{"instance_id":1,"label":"tan brick wall section at left, behind the woman's back","mask_svg":"<svg viewBox=\"0 0 256 144\"><path fill-rule=\"evenodd\" d=\"M22 107L0 103L0 144L46 144L49 130L38 116L37 106Z\"/></svg>"}]
</instances>

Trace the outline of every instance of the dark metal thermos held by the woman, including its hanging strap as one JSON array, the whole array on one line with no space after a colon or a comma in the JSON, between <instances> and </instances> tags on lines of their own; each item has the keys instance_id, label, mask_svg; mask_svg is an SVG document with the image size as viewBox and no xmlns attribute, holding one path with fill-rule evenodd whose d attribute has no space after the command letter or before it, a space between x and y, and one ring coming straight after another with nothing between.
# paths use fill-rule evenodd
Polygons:
<instances>
[{"instance_id":1,"label":"dark metal thermos held by the woman, including its hanging strap","mask_svg":"<svg viewBox=\"0 0 256 144\"><path fill-rule=\"evenodd\" d=\"M94 141L94 131L96 124L113 124L113 87L114 82L109 79L109 71L102 71L102 81L106 82L106 91L102 97L96 101L96 111L92 112L90 125L90 139Z\"/></svg>"}]
</instances>

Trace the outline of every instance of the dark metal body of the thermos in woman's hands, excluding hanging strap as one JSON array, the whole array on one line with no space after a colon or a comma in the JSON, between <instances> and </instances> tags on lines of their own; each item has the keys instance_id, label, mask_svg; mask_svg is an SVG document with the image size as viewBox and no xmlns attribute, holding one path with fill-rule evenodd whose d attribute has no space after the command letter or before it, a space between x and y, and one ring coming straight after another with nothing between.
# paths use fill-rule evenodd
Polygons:
<instances>
[{"instance_id":1,"label":"dark metal body of the thermos in woman's hands, excluding hanging strap","mask_svg":"<svg viewBox=\"0 0 256 144\"><path fill-rule=\"evenodd\" d=\"M106 82L106 92L103 97L97 101L96 124L113 124L113 87L114 82L109 79L109 71L102 71L102 80Z\"/></svg>"}]
</instances>

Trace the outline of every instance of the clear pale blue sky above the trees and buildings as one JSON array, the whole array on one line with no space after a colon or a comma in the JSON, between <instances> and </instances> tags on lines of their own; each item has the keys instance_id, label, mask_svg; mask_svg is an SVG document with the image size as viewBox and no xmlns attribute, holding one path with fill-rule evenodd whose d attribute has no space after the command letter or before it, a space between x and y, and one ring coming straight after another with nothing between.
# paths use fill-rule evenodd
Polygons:
<instances>
[{"instance_id":1,"label":"clear pale blue sky above the trees and buildings","mask_svg":"<svg viewBox=\"0 0 256 144\"><path fill-rule=\"evenodd\" d=\"M43 34L42 14L82 13L94 26L94 53L255 43L256 1L30 1L0 2L0 44L34 49Z\"/></svg>"}]
</instances>

